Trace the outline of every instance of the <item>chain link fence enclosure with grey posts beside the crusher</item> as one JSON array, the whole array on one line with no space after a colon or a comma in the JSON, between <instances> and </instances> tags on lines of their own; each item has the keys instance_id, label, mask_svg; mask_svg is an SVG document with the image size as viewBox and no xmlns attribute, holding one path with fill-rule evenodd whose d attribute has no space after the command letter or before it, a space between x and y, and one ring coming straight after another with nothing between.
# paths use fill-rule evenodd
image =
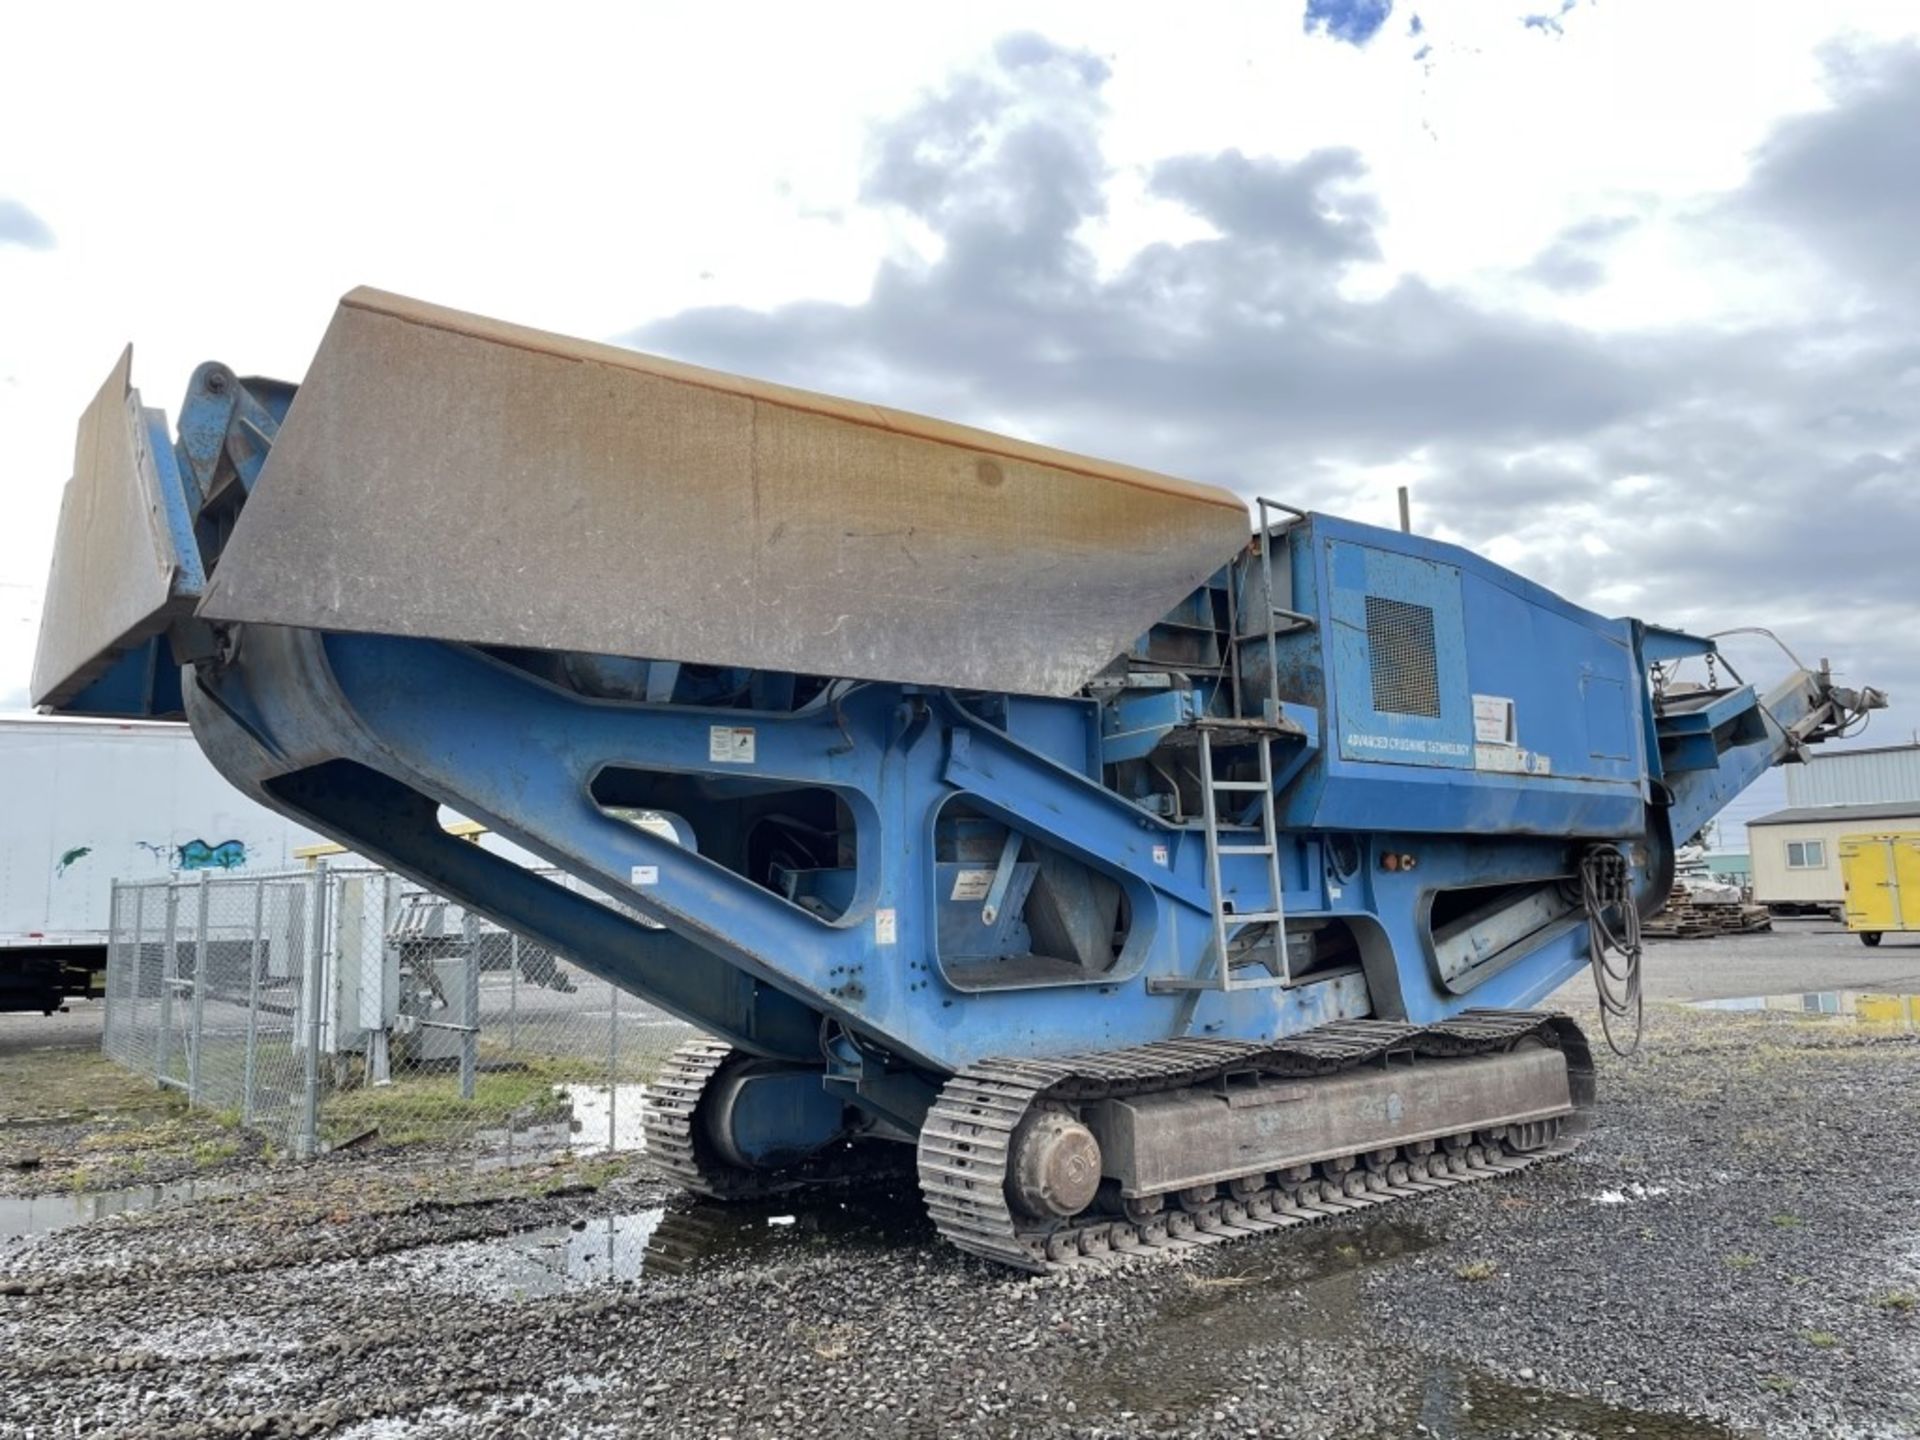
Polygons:
<instances>
[{"instance_id":1,"label":"chain link fence enclosure with grey posts beside the crusher","mask_svg":"<svg viewBox=\"0 0 1920 1440\"><path fill-rule=\"evenodd\" d=\"M637 1150L691 1029L399 876L117 885L104 1048L294 1156L378 1140L476 1164Z\"/></svg>"}]
</instances>

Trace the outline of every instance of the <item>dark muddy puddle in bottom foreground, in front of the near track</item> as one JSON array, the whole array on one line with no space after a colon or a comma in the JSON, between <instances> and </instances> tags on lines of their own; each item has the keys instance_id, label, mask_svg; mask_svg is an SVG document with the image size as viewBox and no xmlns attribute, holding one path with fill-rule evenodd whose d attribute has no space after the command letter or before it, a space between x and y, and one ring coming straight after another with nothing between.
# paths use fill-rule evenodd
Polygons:
<instances>
[{"instance_id":1,"label":"dark muddy puddle in bottom foreground, in front of the near track","mask_svg":"<svg viewBox=\"0 0 1920 1440\"><path fill-rule=\"evenodd\" d=\"M1377 1352L1363 1298L1367 1273L1444 1244L1421 1225L1377 1219L1315 1227L1227 1250L1169 1288L1156 1323L1131 1346L1106 1350L1068 1379L1081 1405L1139 1415L1206 1413L1223 1396L1248 1394L1261 1373L1338 1367ZM1167 1334L1179 1334L1169 1352ZM1511 1434L1730 1440L1705 1421L1644 1413L1599 1400L1509 1384L1471 1367L1409 1356L1402 1392L1409 1434L1478 1440ZM1423 1428L1415 1428L1423 1427Z\"/></svg>"}]
</instances>

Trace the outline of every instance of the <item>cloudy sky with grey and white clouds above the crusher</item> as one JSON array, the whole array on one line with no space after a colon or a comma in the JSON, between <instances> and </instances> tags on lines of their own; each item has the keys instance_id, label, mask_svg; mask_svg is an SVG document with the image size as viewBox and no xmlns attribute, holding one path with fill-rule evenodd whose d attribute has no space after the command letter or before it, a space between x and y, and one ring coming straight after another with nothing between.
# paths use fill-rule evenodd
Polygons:
<instances>
[{"instance_id":1,"label":"cloudy sky with grey and white clouds above the crusher","mask_svg":"<svg viewBox=\"0 0 1920 1440\"><path fill-rule=\"evenodd\" d=\"M0 21L0 708L119 346L173 409L376 284L1379 522L1407 484L1920 724L1910 4L79 12Z\"/></svg>"}]
</instances>

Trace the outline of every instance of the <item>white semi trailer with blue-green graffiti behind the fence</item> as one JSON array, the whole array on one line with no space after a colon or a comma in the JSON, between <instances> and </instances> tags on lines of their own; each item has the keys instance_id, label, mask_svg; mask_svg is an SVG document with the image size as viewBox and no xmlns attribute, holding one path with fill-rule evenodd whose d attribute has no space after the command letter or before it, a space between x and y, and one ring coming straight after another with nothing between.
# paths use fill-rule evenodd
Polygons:
<instances>
[{"instance_id":1,"label":"white semi trailer with blue-green graffiti behind the fence","mask_svg":"<svg viewBox=\"0 0 1920 1440\"><path fill-rule=\"evenodd\" d=\"M284 870L317 843L228 785L186 726L0 718L0 1010L98 993L115 881Z\"/></svg>"}]
</instances>

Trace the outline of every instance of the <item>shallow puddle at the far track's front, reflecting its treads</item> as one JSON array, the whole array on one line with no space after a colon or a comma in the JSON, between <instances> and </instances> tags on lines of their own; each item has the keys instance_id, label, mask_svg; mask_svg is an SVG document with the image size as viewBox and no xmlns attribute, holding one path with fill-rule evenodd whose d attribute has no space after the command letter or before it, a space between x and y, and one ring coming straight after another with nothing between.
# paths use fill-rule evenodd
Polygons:
<instances>
[{"instance_id":1,"label":"shallow puddle at the far track's front, reflecting its treads","mask_svg":"<svg viewBox=\"0 0 1920 1440\"><path fill-rule=\"evenodd\" d=\"M728 1263L778 1263L835 1252L916 1246L933 1227L912 1192L795 1208L791 1202L653 1206L486 1240L453 1240L396 1258L417 1283L499 1300L532 1300L647 1275Z\"/></svg>"}]
</instances>

